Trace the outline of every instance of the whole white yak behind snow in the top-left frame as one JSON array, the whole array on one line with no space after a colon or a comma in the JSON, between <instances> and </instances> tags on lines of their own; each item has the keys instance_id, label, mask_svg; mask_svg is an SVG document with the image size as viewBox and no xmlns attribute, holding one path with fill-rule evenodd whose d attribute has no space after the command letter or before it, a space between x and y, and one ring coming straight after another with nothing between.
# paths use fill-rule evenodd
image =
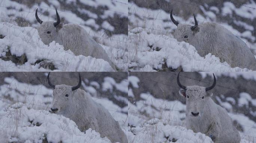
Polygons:
<instances>
[{"instance_id":1,"label":"whole white yak behind snow in the top-left frame","mask_svg":"<svg viewBox=\"0 0 256 143\"><path fill-rule=\"evenodd\" d=\"M109 62L115 69L115 65L110 60L106 51L92 39L81 26L77 24L60 23L60 16L56 9L57 22L43 22L39 19L36 9L36 20L40 23L38 33L43 43L48 45L52 41L63 45L64 50L71 50L75 55L85 55L101 58Z\"/></svg>"}]
</instances>

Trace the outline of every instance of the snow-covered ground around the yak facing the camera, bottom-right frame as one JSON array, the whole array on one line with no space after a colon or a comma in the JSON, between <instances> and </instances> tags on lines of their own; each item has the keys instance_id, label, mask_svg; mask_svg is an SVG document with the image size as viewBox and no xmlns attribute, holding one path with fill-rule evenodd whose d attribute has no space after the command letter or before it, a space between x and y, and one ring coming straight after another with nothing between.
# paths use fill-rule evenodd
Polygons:
<instances>
[{"instance_id":1,"label":"snow-covered ground around the yak facing the camera, bottom-right frame","mask_svg":"<svg viewBox=\"0 0 256 143\"><path fill-rule=\"evenodd\" d=\"M230 77L233 77L234 74L235 73L231 73ZM202 77L204 77L204 75L205 73L202 74ZM221 74L216 73L216 75ZM228 73L225 73L225 75L228 75ZM238 75L241 75L241 73L238 73L237 76ZM244 75L246 75L246 73L244 73ZM248 77L249 76L247 76L247 78ZM254 79L253 76L250 77L251 79ZM130 83L128 96L131 98L128 104L128 138L131 143L212 142L208 136L205 136L205 134L193 133L192 130L185 128L185 104L182 104L182 102L178 100L168 101L155 98L148 91L140 93L140 95L137 95L135 98L133 89L143 88L138 86L141 81L139 77L133 75L128 77L128 81ZM178 95L179 93L177 93L177 96ZM233 109L232 107L232 105L236 105L236 102L238 102L238 106L248 106L248 104L250 104L251 106L253 105L256 107L256 99L245 92L241 92L239 96L238 101L233 97L223 97L225 99L223 102L218 99L218 96L214 95L212 98L217 99L220 106L228 111L232 121L237 123L237 126L241 128L241 131L239 131L241 143L256 143L256 122L244 114L236 113L235 110L237 109ZM247 107L246 109L248 110L249 108ZM251 110L252 109L250 109L250 111Z\"/></svg>"}]
</instances>

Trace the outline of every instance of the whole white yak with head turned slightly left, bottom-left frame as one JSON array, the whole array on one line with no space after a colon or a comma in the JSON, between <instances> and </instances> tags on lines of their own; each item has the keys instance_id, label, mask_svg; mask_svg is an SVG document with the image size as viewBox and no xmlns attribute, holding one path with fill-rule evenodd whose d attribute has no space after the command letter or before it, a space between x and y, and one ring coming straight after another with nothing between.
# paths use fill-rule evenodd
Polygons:
<instances>
[{"instance_id":1,"label":"whole white yak with head turned slightly left, bottom-left frame","mask_svg":"<svg viewBox=\"0 0 256 143\"><path fill-rule=\"evenodd\" d=\"M53 85L47 76L48 84L54 88L50 112L61 114L73 120L81 131L89 128L107 137L111 142L128 143L127 137L119 123L100 104L92 100L84 90L79 89L82 79L76 86Z\"/></svg>"}]
</instances>

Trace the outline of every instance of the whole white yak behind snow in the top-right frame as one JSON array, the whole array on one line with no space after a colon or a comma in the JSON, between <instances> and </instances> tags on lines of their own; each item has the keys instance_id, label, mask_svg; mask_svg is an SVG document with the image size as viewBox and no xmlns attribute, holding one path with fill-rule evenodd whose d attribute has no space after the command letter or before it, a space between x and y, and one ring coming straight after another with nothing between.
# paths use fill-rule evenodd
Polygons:
<instances>
[{"instance_id":1,"label":"whole white yak behind snow in the top-right frame","mask_svg":"<svg viewBox=\"0 0 256 143\"><path fill-rule=\"evenodd\" d=\"M204 22L198 25L194 15L195 25L181 24L173 18L171 20L177 26L174 38L178 42L188 42L193 45L201 57L208 53L226 61L231 67L256 70L256 59L249 47L240 38L232 34L228 29L218 23Z\"/></svg>"}]
</instances>

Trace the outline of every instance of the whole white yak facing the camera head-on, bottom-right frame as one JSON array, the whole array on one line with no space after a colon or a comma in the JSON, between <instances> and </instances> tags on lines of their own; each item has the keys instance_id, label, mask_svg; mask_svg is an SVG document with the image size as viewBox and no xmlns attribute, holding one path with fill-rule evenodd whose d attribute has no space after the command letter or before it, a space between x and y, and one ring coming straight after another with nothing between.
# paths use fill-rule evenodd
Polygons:
<instances>
[{"instance_id":1,"label":"whole white yak facing the camera head-on, bottom-right frame","mask_svg":"<svg viewBox=\"0 0 256 143\"><path fill-rule=\"evenodd\" d=\"M213 93L209 90L216 85L214 74L214 83L207 88L184 86L180 83L179 74L177 83L182 88L179 90L179 94L186 98L186 128L195 133L206 134L214 143L240 143L240 134L227 111L211 99Z\"/></svg>"}]
</instances>

